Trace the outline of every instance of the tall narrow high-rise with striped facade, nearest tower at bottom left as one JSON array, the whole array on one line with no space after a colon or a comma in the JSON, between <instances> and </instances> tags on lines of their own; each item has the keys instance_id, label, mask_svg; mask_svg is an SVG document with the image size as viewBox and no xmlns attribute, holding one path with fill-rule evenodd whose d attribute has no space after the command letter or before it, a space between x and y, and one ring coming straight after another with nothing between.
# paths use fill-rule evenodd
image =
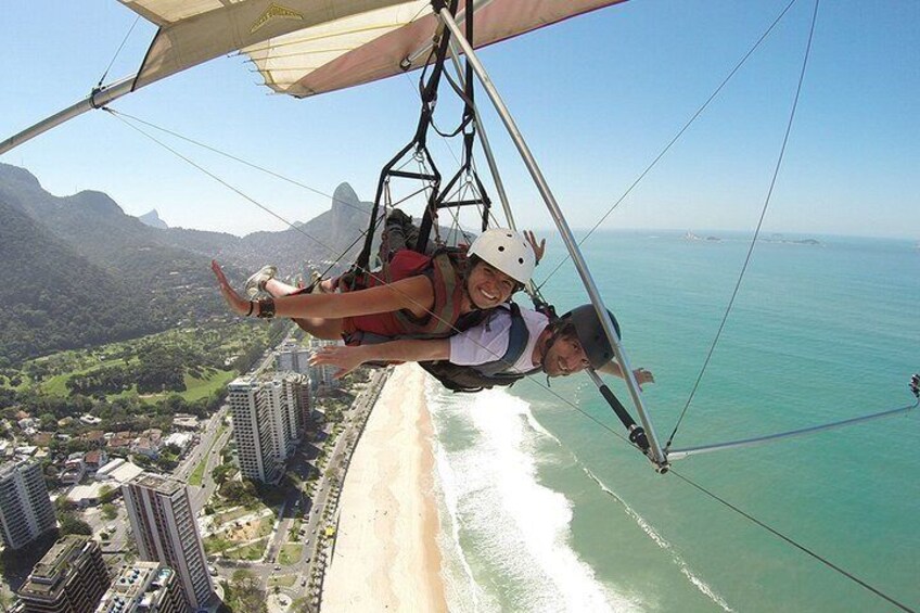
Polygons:
<instances>
[{"instance_id":1,"label":"tall narrow high-rise with striped facade, nearest tower at bottom left","mask_svg":"<svg viewBox=\"0 0 920 613\"><path fill-rule=\"evenodd\" d=\"M140 559L176 572L191 608L205 608L214 592L186 485L141 473L122 486Z\"/></svg>"}]
</instances>

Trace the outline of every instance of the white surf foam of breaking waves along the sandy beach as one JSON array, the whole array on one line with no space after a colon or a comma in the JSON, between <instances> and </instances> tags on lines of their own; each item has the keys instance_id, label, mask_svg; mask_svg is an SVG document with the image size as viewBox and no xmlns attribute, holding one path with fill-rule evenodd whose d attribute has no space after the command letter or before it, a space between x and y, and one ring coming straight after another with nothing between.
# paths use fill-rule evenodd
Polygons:
<instances>
[{"instance_id":1,"label":"white surf foam of breaking waves along the sandy beach","mask_svg":"<svg viewBox=\"0 0 920 613\"><path fill-rule=\"evenodd\" d=\"M529 406L504 391L430 397L437 429L462 423L465 446L437 446L450 541L475 588L474 610L630 611L639 603L614 593L568 545L572 507L537 482L538 448L555 438ZM558 442L557 442L558 444ZM463 544L463 547L461 547ZM456 586L455 586L456 587ZM467 610L463 603L451 608Z\"/></svg>"}]
</instances>

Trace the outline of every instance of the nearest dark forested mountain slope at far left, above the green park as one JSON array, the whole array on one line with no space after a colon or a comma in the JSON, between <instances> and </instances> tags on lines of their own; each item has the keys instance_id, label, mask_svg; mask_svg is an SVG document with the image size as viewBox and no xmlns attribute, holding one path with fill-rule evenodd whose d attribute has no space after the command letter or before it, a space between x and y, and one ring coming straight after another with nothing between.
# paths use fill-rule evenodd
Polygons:
<instances>
[{"instance_id":1,"label":"nearest dark forested mountain slope at far left, above the green park","mask_svg":"<svg viewBox=\"0 0 920 613\"><path fill-rule=\"evenodd\" d=\"M58 197L0 164L0 297L17 311L4 322L0 361L227 312L209 257L163 243L168 230L125 215L104 193Z\"/></svg>"}]
</instances>

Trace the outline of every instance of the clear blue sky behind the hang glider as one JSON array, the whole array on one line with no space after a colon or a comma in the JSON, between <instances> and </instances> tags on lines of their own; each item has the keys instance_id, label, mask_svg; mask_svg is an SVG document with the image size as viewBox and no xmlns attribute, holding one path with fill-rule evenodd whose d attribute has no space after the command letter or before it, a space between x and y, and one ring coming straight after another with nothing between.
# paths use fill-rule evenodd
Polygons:
<instances>
[{"instance_id":1,"label":"clear blue sky behind the hang glider","mask_svg":"<svg viewBox=\"0 0 920 613\"><path fill-rule=\"evenodd\" d=\"M573 227L593 226L654 159L787 0L631 0L481 53ZM795 91L813 1L798 0L739 74L602 228L753 230ZM114 0L8 0L0 20L0 138L84 98L135 14ZM820 3L813 52L767 231L920 239L920 2ZM139 23L107 80L135 72ZM49 43L50 41L50 43ZM192 68L113 106L296 179L291 187L170 145L286 219L329 207L348 181L370 200L411 136L414 79L307 100L271 94L243 58ZM445 95L446 98L446 95ZM481 97L519 222L550 220ZM443 100L443 112L452 110ZM452 117L445 116L449 124ZM450 151L438 139L445 174ZM245 234L283 225L118 119L94 112L2 156L46 189L112 195L129 214ZM483 166L484 167L484 166Z\"/></svg>"}]
</instances>

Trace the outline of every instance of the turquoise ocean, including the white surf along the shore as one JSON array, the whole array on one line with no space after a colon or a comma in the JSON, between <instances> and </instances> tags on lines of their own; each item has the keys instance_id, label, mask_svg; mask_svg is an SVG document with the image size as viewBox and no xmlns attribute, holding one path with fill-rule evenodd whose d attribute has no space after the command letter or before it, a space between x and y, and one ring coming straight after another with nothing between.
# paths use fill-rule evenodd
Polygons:
<instances>
[{"instance_id":1,"label":"turquoise ocean, including the white surf along the shore","mask_svg":"<svg viewBox=\"0 0 920 613\"><path fill-rule=\"evenodd\" d=\"M583 246L666 439L750 235L602 232ZM674 447L903 407L920 370L911 241L768 237ZM536 278L564 253L558 242ZM563 266L544 288L586 302ZM520 298L519 298L520 299ZM612 387L629 406L621 382ZM584 375L476 395L427 389L452 611L896 611L686 477L920 610L920 410L674 462L629 447Z\"/></svg>"}]
</instances>

